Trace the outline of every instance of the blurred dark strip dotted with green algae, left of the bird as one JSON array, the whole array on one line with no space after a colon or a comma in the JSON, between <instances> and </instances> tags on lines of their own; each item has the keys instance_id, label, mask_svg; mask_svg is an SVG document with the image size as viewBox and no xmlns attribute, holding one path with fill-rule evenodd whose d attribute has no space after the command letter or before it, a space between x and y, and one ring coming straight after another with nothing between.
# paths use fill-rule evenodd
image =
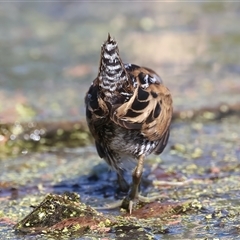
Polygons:
<instances>
[{"instance_id":1,"label":"blurred dark strip dotted with green algae, left of the bird","mask_svg":"<svg viewBox=\"0 0 240 240\"><path fill-rule=\"evenodd\" d=\"M86 146L92 137L85 122L49 122L0 124L0 157L28 152L43 152L51 148Z\"/></svg>"}]
</instances>

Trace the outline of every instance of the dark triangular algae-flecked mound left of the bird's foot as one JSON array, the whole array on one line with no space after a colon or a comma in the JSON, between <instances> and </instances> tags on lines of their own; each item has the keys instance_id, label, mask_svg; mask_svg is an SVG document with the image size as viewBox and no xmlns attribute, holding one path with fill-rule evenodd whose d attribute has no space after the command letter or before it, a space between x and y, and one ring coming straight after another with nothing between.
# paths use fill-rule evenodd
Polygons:
<instances>
[{"instance_id":1,"label":"dark triangular algae-flecked mound left of the bird's foot","mask_svg":"<svg viewBox=\"0 0 240 240\"><path fill-rule=\"evenodd\" d=\"M101 213L81 203L78 194L65 193L47 195L14 229L26 234L61 231L65 234L81 235L90 228L102 230L110 223Z\"/></svg>"}]
</instances>

